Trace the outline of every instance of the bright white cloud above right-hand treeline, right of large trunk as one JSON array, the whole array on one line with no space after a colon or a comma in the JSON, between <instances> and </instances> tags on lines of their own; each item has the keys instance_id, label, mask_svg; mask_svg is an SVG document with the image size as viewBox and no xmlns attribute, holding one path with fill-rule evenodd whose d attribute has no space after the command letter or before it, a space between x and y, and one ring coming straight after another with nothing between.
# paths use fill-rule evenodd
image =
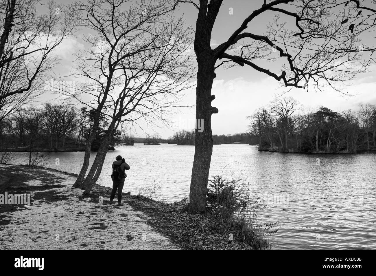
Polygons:
<instances>
[{"instance_id":1,"label":"bright white cloud above right-hand treeline, right of large trunk","mask_svg":"<svg viewBox=\"0 0 376 276\"><path fill-rule=\"evenodd\" d=\"M343 96L337 91L314 92L294 88L281 97L291 96L304 107L318 108L321 105L335 111L347 109L356 110L359 102L376 104L375 82L363 82L347 87L354 96ZM247 81L235 78L225 81L215 80L212 94L215 100L212 105L219 109L218 114L212 116L212 130L214 134L233 134L247 130L249 121L247 116L259 107L267 106L275 96L279 96L286 88L272 78L260 81Z\"/></svg>"}]
</instances>

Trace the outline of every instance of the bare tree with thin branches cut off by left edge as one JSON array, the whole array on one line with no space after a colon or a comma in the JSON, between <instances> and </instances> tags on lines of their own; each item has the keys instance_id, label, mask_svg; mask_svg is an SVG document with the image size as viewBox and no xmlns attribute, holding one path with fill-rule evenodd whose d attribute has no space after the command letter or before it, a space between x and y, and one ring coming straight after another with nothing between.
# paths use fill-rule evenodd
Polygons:
<instances>
[{"instance_id":1,"label":"bare tree with thin branches cut off by left edge","mask_svg":"<svg viewBox=\"0 0 376 276\"><path fill-rule=\"evenodd\" d=\"M0 120L40 95L43 78L57 62L53 51L75 27L74 11L47 1L37 15L35 1L0 2ZM38 3L38 2L37 2ZM39 4L39 3L38 3Z\"/></svg>"}]
</instances>

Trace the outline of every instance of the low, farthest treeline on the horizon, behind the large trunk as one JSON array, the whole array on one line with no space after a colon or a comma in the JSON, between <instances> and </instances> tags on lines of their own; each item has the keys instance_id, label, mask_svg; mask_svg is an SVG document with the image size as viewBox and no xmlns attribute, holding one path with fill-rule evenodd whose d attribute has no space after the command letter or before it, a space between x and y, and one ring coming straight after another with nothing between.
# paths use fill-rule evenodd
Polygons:
<instances>
[{"instance_id":1,"label":"low, farthest treeline on the horizon, behind the large trunk","mask_svg":"<svg viewBox=\"0 0 376 276\"><path fill-rule=\"evenodd\" d=\"M252 143L252 135L249 133L237 133L228 135L212 135L214 145L232 143ZM194 145L196 133L194 130L180 130L167 140L169 144Z\"/></svg>"}]
</instances>

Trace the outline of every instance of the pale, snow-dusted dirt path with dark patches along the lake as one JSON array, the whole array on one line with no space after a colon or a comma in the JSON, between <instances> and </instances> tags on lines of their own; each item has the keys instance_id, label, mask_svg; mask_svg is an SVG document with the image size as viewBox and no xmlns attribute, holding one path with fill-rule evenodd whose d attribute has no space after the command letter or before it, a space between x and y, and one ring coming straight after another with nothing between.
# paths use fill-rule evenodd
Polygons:
<instances>
[{"instance_id":1,"label":"pale, snow-dusted dirt path with dark patches along the lake","mask_svg":"<svg viewBox=\"0 0 376 276\"><path fill-rule=\"evenodd\" d=\"M97 187L90 197L70 189L75 179L47 169L0 165L0 194L31 197L26 207L0 204L1 248L179 249L126 200L124 206L109 205L107 188Z\"/></svg>"}]
</instances>

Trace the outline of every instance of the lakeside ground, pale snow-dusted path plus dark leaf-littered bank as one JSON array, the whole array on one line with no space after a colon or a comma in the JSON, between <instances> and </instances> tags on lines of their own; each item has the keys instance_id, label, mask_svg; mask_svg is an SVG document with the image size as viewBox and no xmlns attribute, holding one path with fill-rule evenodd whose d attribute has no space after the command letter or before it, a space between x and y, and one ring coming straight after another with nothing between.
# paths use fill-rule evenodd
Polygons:
<instances>
[{"instance_id":1,"label":"lakeside ground, pale snow-dusted path plus dark leaf-littered bank","mask_svg":"<svg viewBox=\"0 0 376 276\"><path fill-rule=\"evenodd\" d=\"M229 241L207 215L182 212L184 200L167 204L126 196L125 185L124 206L114 206L108 204L109 187L96 184L88 195L71 189L76 177L41 166L0 164L0 194L27 193L32 201L30 207L0 204L3 249L17 249L15 244L18 249L252 249Z\"/></svg>"}]
</instances>

